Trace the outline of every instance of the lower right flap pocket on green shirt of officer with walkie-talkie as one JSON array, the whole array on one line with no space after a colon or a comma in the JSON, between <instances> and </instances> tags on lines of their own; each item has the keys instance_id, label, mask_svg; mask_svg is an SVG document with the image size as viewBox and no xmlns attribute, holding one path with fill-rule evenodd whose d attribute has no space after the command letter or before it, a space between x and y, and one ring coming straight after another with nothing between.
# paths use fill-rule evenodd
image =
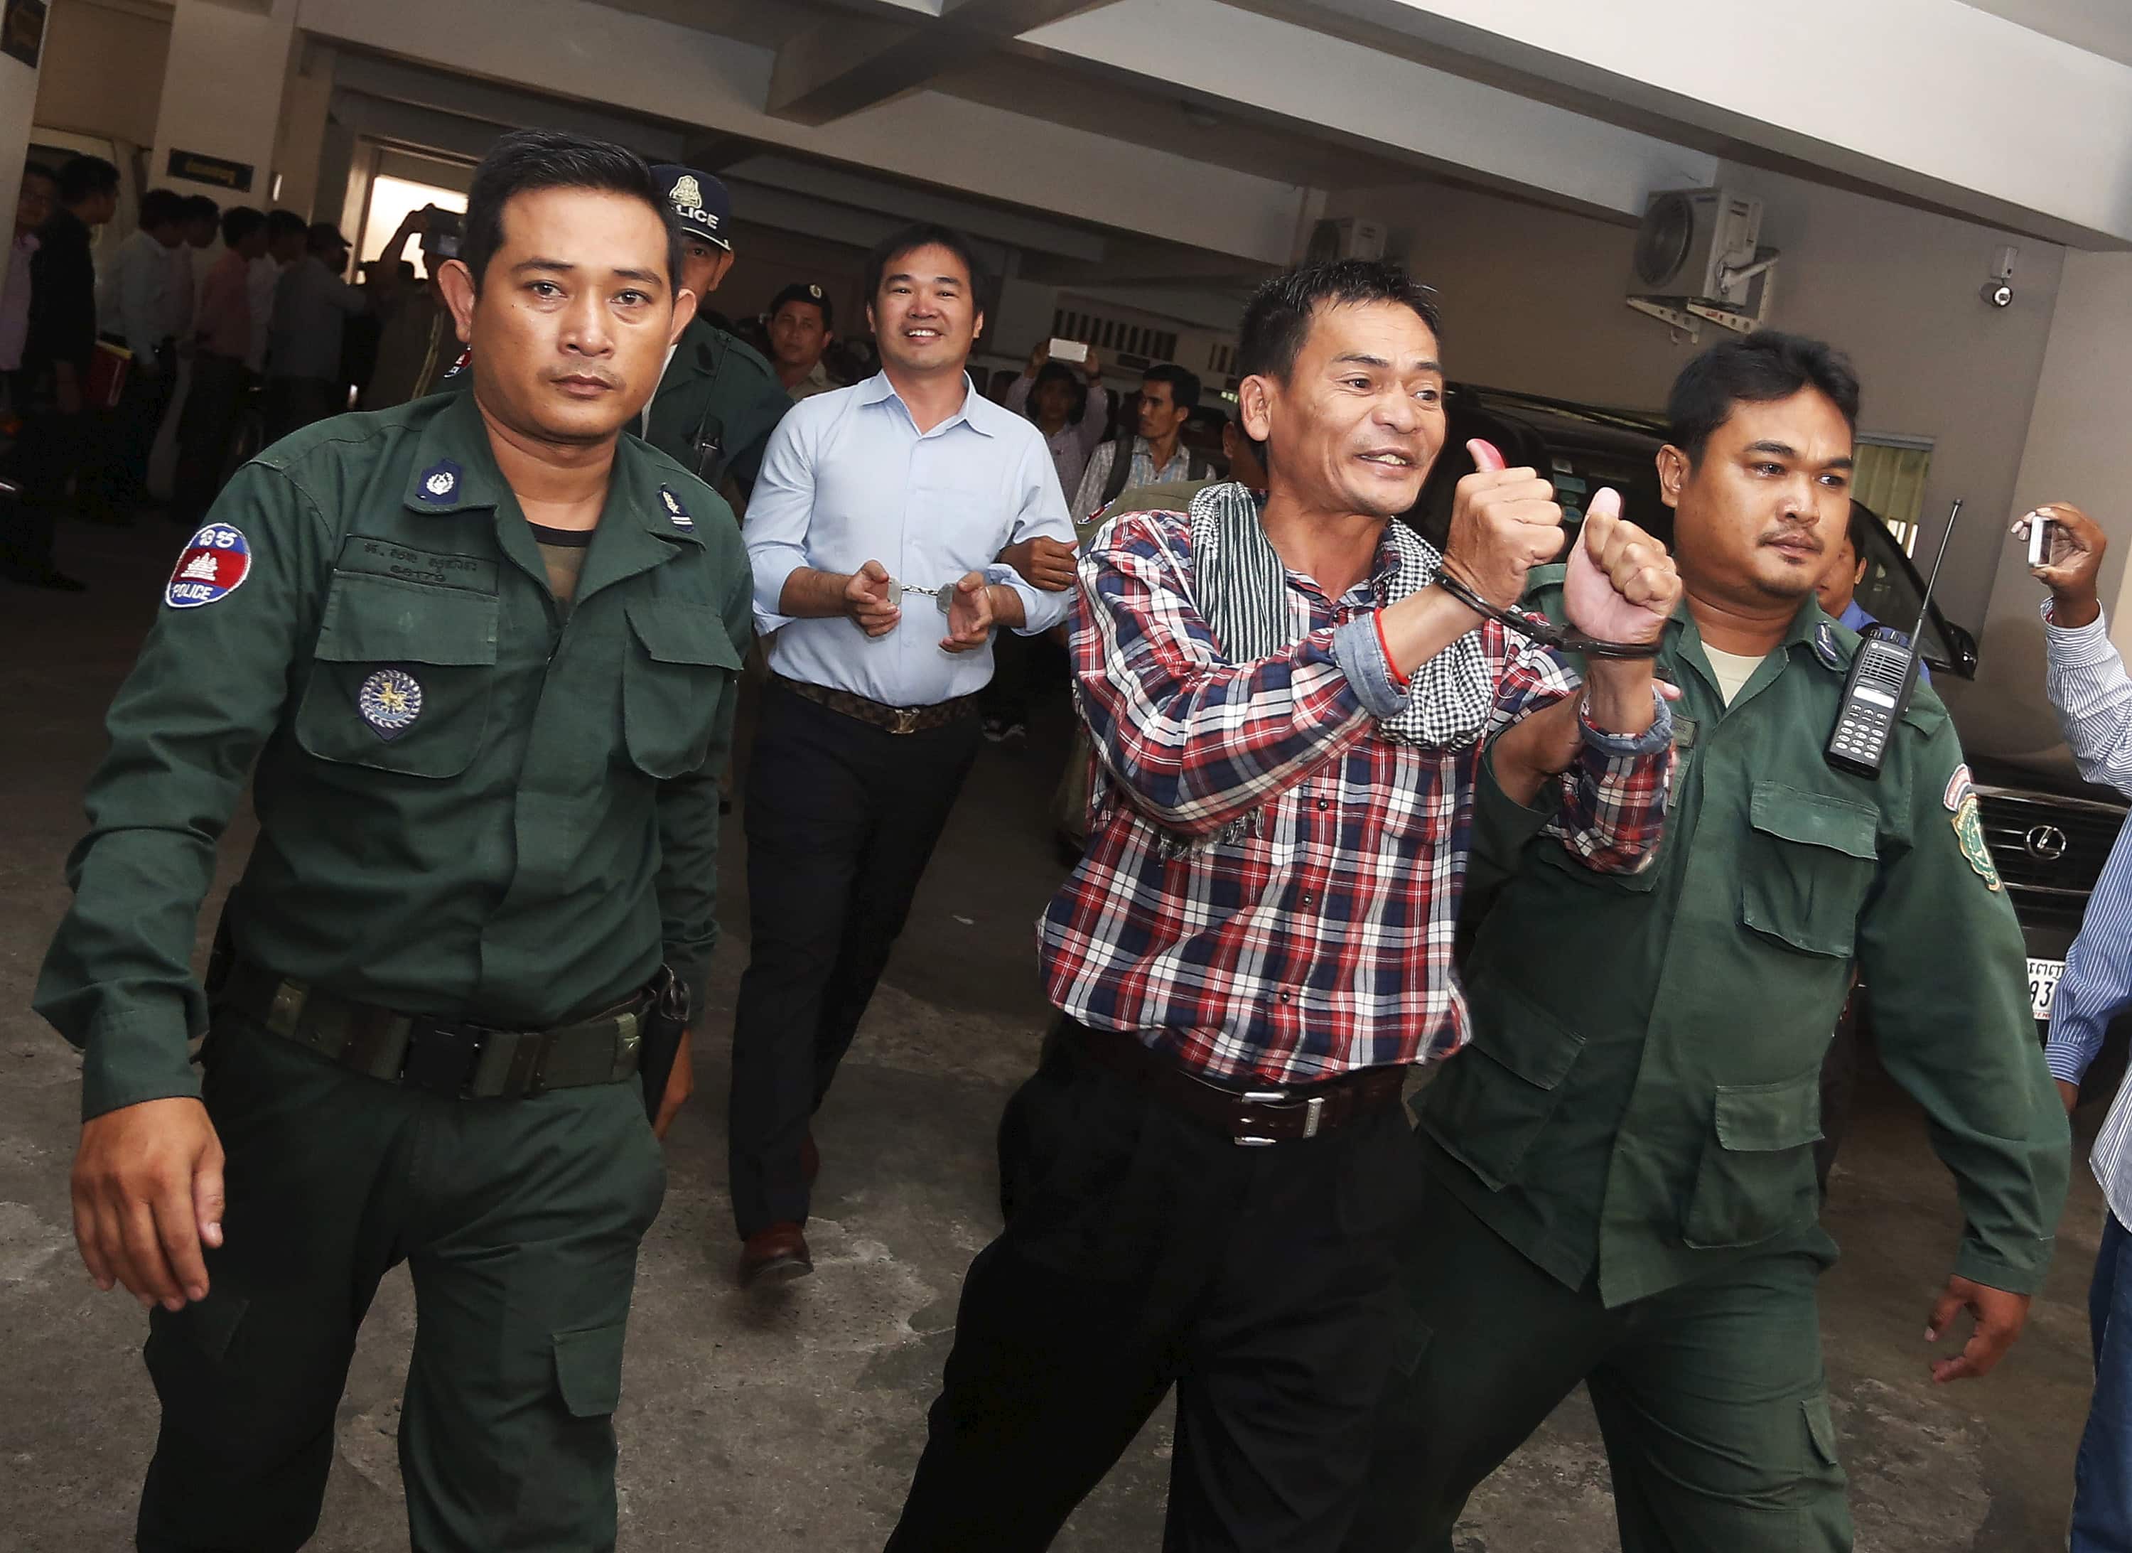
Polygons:
<instances>
[{"instance_id":1,"label":"lower right flap pocket on green shirt of officer with walkie-talkie","mask_svg":"<svg viewBox=\"0 0 2132 1553\"><path fill-rule=\"evenodd\" d=\"M1680 1237L1757 1246L1814 1218L1821 1069L1778 1084L1721 1084Z\"/></svg>"}]
</instances>

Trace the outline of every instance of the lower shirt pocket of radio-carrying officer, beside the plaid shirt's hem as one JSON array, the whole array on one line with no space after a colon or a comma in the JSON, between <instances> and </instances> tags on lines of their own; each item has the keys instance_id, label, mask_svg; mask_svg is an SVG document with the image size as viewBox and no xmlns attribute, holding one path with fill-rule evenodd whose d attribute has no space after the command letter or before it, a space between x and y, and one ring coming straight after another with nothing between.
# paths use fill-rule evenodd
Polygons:
<instances>
[{"instance_id":1,"label":"lower shirt pocket of radio-carrying officer, beside the plaid shirt's hem","mask_svg":"<svg viewBox=\"0 0 2132 1553\"><path fill-rule=\"evenodd\" d=\"M1520 1178L1584 1037L1514 992L1477 992L1471 1011L1471 1045L1422 1092L1422 1131L1495 1192Z\"/></svg>"}]
</instances>

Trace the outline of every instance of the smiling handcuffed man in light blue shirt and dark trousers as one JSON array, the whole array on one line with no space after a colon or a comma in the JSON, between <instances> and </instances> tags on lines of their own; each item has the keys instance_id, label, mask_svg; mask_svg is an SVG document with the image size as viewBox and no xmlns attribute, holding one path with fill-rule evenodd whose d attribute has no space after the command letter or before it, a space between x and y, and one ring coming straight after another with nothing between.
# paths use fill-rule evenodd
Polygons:
<instances>
[{"instance_id":1,"label":"smiling handcuffed man in light blue shirt and dark trousers","mask_svg":"<svg viewBox=\"0 0 2132 1553\"><path fill-rule=\"evenodd\" d=\"M1036 538L1070 546L1072 525L1043 433L970 386L981 290L959 233L883 241L866 309L881 373L793 405L748 501L770 687L733 1013L742 1284L812 1271L810 1118L976 757L991 631L1036 636L1072 597L994 561Z\"/></svg>"}]
</instances>

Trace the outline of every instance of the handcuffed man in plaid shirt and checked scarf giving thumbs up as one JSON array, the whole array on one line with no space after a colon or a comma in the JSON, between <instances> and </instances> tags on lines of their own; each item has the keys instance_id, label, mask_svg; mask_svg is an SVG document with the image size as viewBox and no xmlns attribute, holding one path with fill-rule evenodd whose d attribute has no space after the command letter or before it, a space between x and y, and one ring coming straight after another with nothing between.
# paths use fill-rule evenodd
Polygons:
<instances>
[{"instance_id":1,"label":"handcuffed man in plaid shirt and checked scarf giving thumbs up","mask_svg":"<svg viewBox=\"0 0 2132 1553\"><path fill-rule=\"evenodd\" d=\"M1445 435L1431 292L1303 269L1254 299L1239 356L1269 495L1128 512L1081 557L1098 772L1040 926L1062 1020L1000 1126L1006 1229L964 1284L895 1553L1047 1547L1173 1382L1170 1553L1339 1547L1401 1363L1401 1088L1467 1041L1458 894L1509 808L1475 811L1475 783L1552 783L1593 870L1659 840L1650 659L1595 657L1580 695L1495 619L1563 546L1548 482L1463 480L1443 557L1392 523ZM1569 623L1633 651L1678 595L1595 499Z\"/></svg>"}]
</instances>

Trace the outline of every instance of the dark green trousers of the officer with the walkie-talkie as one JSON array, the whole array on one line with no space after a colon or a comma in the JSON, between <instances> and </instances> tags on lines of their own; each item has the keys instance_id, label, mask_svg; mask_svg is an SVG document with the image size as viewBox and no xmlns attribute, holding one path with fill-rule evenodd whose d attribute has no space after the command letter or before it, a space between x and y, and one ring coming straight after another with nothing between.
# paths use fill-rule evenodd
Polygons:
<instances>
[{"instance_id":1,"label":"dark green trousers of the officer with the walkie-talkie","mask_svg":"<svg viewBox=\"0 0 2132 1553\"><path fill-rule=\"evenodd\" d=\"M1578 1382L1622 1553L1846 1553L1812 1250L1608 1310L1431 1182L1401 1265L1420 1357L1377 1419L1345 1553L1452 1553L1467 1498Z\"/></svg>"}]
</instances>

